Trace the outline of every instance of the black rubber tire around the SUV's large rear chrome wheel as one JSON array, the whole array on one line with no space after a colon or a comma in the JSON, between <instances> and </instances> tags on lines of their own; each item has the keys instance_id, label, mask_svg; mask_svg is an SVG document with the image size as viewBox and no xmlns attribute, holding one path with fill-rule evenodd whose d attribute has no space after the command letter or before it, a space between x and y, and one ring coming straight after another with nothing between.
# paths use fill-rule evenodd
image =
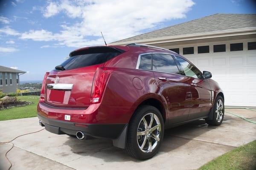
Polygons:
<instances>
[{"instance_id":1,"label":"black rubber tire around the SUV's large rear chrome wheel","mask_svg":"<svg viewBox=\"0 0 256 170\"><path fill-rule=\"evenodd\" d=\"M151 113L154 113L154 114L151 114ZM150 135L142 135L142 136L137 137L137 131L139 129L139 126L141 126L142 123L144 124L144 122L141 122L143 117L145 116L145 119L147 119L148 116L149 116L149 118L151 118L151 115L154 115L154 116L156 115L158 117L158 119L154 119L154 121L153 121L154 123L151 126L149 126L150 119L147 120L149 122L149 124L148 124L149 130L148 131L151 131L151 127L152 127L152 132L149 132ZM156 127L156 125L157 125L157 121L160 122L161 128L159 127L157 130L153 130L153 127ZM144 130L144 131L146 131L146 130ZM147 131L147 133L148 133L148 131ZM142 106L134 112L134 115L132 116L132 118L129 122L125 150L130 156L140 159L140 160L145 160L145 159L151 158L160 149L161 143L163 141L163 133L164 133L164 122L163 122L163 116L161 115L160 111L157 108L149 106L149 105ZM159 141L157 141L155 139L157 134L159 136L158 137ZM150 148L148 138L150 138L150 141L152 141L151 148L153 148L154 142L157 142L154 149L152 149L151 152L144 153L142 151L144 147L141 150L140 147L138 146L140 138L142 141L146 140L147 145L144 144L143 146L145 146L145 147L148 146L148 148ZM137 141L137 140L139 140L139 141ZM141 144L141 146L142 146L142 144Z\"/></svg>"}]
</instances>

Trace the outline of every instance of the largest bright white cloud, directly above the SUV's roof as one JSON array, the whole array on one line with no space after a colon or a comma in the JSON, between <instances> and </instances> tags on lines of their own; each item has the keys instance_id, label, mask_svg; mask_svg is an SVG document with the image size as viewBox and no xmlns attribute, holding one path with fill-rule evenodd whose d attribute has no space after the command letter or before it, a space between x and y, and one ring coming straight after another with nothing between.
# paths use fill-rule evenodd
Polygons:
<instances>
[{"instance_id":1,"label":"largest bright white cloud, directly above the SUV's roof","mask_svg":"<svg viewBox=\"0 0 256 170\"><path fill-rule=\"evenodd\" d=\"M44 17L64 13L79 18L72 26L63 23L58 33L47 30L30 30L21 39L58 41L59 46L81 47L103 44L156 29L159 24L184 18L195 3L192 0L62 0L49 1L43 10Z\"/></svg>"}]
</instances>

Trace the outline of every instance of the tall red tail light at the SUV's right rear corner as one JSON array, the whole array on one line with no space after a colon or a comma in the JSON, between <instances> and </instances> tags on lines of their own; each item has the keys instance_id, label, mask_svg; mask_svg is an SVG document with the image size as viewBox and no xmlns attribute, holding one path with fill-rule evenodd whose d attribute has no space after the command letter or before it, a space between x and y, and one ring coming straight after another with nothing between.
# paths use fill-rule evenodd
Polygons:
<instances>
[{"instance_id":1,"label":"tall red tail light at the SUV's right rear corner","mask_svg":"<svg viewBox=\"0 0 256 170\"><path fill-rule=\"evenodd\" d=\"M110 70L108 68L97 68L94 78L93 78L93 86L92 86L92 92L91 92L91 103L96 104L100 103L102 94L105 90L105 86L108 82L108 78L113 72L113 70Z\"/></svg>"}]
</instances>

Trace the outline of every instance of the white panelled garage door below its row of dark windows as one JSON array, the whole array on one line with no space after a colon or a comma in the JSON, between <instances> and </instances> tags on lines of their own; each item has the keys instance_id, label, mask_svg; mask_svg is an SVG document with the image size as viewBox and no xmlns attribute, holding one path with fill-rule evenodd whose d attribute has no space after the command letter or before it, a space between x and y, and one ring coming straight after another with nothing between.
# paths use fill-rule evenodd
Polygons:
<instances>
[{"instance_id":1,"label":"white panelled garage door below its row of dark windows","mask_svg":"<svg viewBox=\"0 0 256 170\"><path fill-rule=\"evenodd\" d=\"M244 49L213 53L210 48L210 53L183 56L201 71L212 72L224 91L226 106L256 107L256 50Z\"/></svg>"}]
</instances>

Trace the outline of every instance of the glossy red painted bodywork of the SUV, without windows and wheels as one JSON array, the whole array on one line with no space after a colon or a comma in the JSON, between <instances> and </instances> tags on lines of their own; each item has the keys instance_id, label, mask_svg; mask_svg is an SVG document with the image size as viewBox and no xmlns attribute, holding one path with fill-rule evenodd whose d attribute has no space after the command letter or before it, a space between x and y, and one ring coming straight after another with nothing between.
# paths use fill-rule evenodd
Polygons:
<instances>
[{"instance_id":1,"label":"glossy red painted bodywork of the SUV, without windows and wheels","mask_svg":"<svg viewBox=\"0 0 256 170\"><path fill-rule=\"evenodd\" d=\"M60 72L51 71L46 85L54 84L54 79L58 76L58 83L73 84L73 89L58 91L45 88L45 101L39 102L38 114L61 121L66 121L64 115L70 115L70 121L74 123L127 124L143 101L155 99L163 106L166 124L174 124L198 115L207 115L212 108L211 91L214 91L214 99L222 92L211 79L196 79L197 86L192 86L195 78L136 69L140 54L165 52L177 55L176 53L133 46L112 47L125 52L102 64ZM90 95L98 67L114 69L108 78L101 102L92 104ZM168 81L160 81L158 77L162 76L168 78Z\"/></svg>"}]
</instances>

